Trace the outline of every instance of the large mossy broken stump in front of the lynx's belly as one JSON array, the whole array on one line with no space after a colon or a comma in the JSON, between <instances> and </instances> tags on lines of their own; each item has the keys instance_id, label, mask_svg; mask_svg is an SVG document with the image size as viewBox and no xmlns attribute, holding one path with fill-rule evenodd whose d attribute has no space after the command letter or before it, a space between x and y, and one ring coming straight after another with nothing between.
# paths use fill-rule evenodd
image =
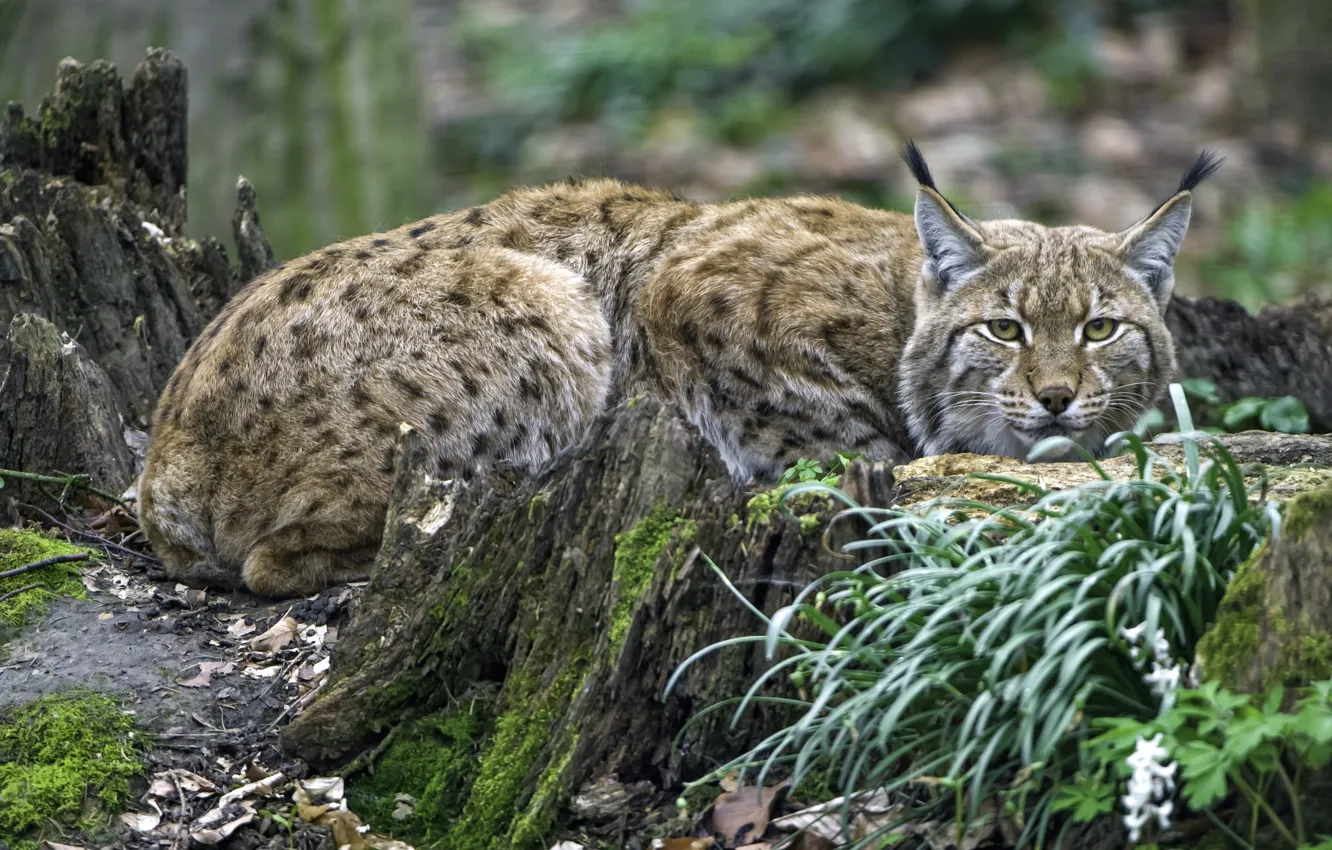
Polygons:
<instances>
[{"instance_id":1,"label":"large mossy broken stump in front of the lynx's belly","mask_svg":"<svg viewBox=\"0 0 1332 850\"><path fill-rule=\"evenodd\" d=\"M441 482L422 461L409 432L385 542L333 659L337 681L286 727L288 751L337 765L405 721L468 713L484 743L464 790L454 782L418 805L436 811L441 846L523 849L551 839L589 781L614 773L671 786L761 734L763 711L741 730L715 711L671 746L691 715L766 669L758 645L710 655L669 697L663 689L699 649L762 629L706 558L773 613L844 564L814 524L766 509L749 522L753 494L654 401L599 420L538 481ZM404 773L420 742L420 726L404 727L381 759ZM438 761L456 765L448 753ZM452 807L441 811L440 794Z\"/></svg>"}]
</instances>

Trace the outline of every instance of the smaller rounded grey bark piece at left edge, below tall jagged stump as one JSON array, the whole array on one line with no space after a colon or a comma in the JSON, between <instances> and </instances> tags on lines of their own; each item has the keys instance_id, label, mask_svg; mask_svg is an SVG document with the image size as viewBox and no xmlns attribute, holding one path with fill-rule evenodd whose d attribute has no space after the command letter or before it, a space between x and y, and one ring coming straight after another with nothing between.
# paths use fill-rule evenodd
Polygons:
<instances>
[{"instance_id":1,"label":"smaller rounded grey bark piece at left edge, below tall jagged stump","mask_svg":"<svg viewBox=\"0 0 1332 850\"><path fill-rule=\"evenodd\" d=\"M111 493L133 477L115 388L77 342L20 314L0 337L0 468L81 473ZM0 494L48 504L59 486L8 477Z\"/></svg>"}]
</instances>

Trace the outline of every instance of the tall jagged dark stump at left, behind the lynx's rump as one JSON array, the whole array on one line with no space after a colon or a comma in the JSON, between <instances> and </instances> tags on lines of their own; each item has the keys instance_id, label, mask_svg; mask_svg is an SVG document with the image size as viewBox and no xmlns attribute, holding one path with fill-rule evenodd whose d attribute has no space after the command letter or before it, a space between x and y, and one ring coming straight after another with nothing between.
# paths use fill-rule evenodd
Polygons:
<instances>
[{"instance_id":1,"label":"tall jagged dark stump at left, behind the lynx's rump","mask_svg":"<svg viewBox=\"0 0 1332 850\"><path fill-rule=\"evenodd\" d=\"M140 428L190 340L249 280L220 242L184 234L185 136L185 68L160 49L128 87L109 63L65 60L36 115L11 103L0 117L0 326L33 313L77 337ZM253 191L241 207L249 273L272 250Z\"/></svg>"}]
</instances>

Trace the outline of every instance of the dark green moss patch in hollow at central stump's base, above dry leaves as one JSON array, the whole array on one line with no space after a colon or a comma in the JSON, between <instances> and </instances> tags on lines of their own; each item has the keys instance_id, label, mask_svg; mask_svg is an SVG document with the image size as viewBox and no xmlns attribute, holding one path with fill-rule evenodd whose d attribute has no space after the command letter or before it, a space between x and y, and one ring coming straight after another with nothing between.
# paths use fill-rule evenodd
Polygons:
<instances>
[{"instance_id":1,"label":"dark green moss patch in hollow at central stump's base, above dry leaves","mask_svg":"<svg viewBox=\"0 0 1332 850\"><path fill-rule=\"evenodd\" d=\"M373 775L352 783L352 810L397 838L425 843L442 839L468 799L488 726L485 710L418 719L376 761ZM416 813L405 821L393 818L397 794L416 799Z\"/></svg>"}]
</instances>

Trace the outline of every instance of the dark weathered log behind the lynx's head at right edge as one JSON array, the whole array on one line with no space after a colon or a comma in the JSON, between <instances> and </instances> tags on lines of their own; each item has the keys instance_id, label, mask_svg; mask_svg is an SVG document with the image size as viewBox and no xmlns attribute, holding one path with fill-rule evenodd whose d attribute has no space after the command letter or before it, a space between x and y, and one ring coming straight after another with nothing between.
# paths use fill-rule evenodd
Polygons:
<instances>
[{"instance_id":1,"label":"dark weathered log behind the lynx's head at right edge","mask_svg":"<svg viewBox=\"0 0 1332 850\"><path fill-rule=\"evenodd\" d=\"M1180 373L1216 384L1223 401L1295 396L1313 432L1332 432L1332 298L1305 296L1257 316L1235 301L1172 298L1166 324Z\"/></svg>"}]
</instances>

